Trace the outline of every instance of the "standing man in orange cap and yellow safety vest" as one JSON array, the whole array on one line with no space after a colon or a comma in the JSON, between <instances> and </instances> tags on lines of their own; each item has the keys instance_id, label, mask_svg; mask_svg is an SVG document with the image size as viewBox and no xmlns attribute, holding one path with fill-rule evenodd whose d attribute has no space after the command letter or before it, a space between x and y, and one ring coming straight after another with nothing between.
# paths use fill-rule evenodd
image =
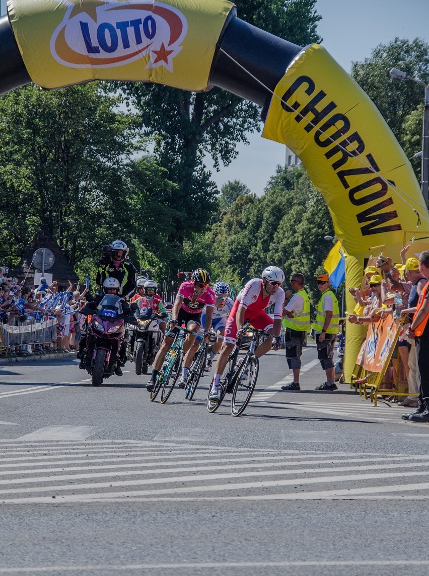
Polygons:
<instances>
[{"instance_id":1,"label":"standing man in orange cap and yellow safety vest","mask_svg":"<svg viewBox=\"0 0 429 576\"><path fill-rule=\"evenodd\" d=\"M330 289L329 276L319 274L316 279L321 291L320 300L315 309L314 321L311 327L316 335L317 355L326 372L326 382L317 386L316 390L332 392L337 390L335 384L334 343L340 328L340 308L336 295Z\"/></svg>"}]
</instances>

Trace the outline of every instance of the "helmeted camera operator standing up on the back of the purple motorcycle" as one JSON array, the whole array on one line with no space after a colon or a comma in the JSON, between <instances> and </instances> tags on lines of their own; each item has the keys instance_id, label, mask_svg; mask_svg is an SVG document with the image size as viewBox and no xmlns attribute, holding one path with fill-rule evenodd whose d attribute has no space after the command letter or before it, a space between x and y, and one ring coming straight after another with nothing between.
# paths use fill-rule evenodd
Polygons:
<instances>
[{"instance_id":1,"label":"helmeted camera operator standing up on the back of the purple motorcycle","mask_svg":"<svg viewBox=\"0 0 429 576\"><path fill-rule=\"evenodd\" d=\"M136 290L136 268L127 261L128 248L122 240L114 240L103 246L100 267L97 271L96 284L103 286L107 278L116 278L119 282L118 295L129 298Z\"/></svg>"}]
</instances>

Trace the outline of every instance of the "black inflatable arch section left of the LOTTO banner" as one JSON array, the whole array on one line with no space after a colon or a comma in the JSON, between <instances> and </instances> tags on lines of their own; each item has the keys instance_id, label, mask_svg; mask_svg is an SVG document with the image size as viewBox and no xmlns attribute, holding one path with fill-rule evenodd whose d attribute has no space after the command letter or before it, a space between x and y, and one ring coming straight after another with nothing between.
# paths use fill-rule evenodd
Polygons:
<instances>
[{"instance_id":1,"label":"black inflatable arch section left of the LOTTO banner","mask_svg":"<svg viewBox=\"0 0 429 576\"><path fill-rule=\"evenodd\" d=\"M0 94L31 82L12 32L9 18L0 18Z\"/></svg>"}]
</instances>

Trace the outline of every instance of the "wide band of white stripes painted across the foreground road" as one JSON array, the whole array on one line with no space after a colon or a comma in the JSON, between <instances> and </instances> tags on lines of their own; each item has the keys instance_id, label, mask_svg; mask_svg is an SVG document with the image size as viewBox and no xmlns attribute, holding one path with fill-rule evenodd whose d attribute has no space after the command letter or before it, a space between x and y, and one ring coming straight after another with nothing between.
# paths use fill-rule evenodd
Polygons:
<instances>
[{"instance_id":1,"label":"wide band of white stripes painted across the foreground road","mask_svg":"<svg viewBox=\"0 0 429 576\"><path fill-rule=\"evenodd\" d=\"M429 455L0 441L0 502L429 499ZM398 495L398 492L403 494Z\"/></svg>"}]
</instances>

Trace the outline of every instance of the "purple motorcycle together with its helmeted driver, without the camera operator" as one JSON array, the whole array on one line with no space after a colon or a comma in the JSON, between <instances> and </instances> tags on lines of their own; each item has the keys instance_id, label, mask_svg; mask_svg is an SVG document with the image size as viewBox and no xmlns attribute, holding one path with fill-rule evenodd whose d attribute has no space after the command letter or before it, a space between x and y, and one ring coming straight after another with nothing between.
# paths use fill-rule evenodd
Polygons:
<instances>
[{"instance_id":1,"label":"purple motorcycle together with its helmeted driver, without the camera operator","mask_svg":"<svg viewBox=\"0 0 429 576\"><path fill-rule=\"evenodd\" d=\"M110 286L111 285L111 286ZM82 367L91 375L93 386L100 386L104 378L113 374L122 375L122 356L125 357L125 322L134 322L129 316L129 307L116 293L119 282L107 278L103 282L104 294L96 296L80 310L85 316L91 315L82 349ZM82 343L83 344L83 343ZM122 347L124 353L122 353ZM83 346L82 346L83 348Z\"/></svg>"}]
</instances>

